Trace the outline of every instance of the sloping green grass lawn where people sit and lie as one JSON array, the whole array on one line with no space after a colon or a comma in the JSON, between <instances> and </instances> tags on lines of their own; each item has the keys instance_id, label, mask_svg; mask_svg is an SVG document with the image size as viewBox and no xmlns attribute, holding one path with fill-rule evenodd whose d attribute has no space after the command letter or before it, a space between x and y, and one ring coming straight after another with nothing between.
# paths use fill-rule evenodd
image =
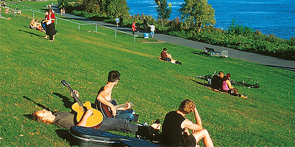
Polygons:
<instances>
[{"instance_id":1,"label":"sloping green grass lawn where people sit and lie","mask_svg":"<svg viewBox=\"0 0 295 147\"><path fill-rule=\"evenodd\" d=\"M80 92L81 101L94 102L107 73L118 70L121 80L112 97L132 101L139 122L152 123L185 98L193 99L215 146L293 146L295 73L247 61L211 57L200 50L169 43L143 43L143 38L58 21L54 42L45 33L26 28L32 13L3 14L0 21L0 146L69 146L62 128L31 120L27 115L48 107L71 111L73 98L60 81ZM35 14L35 19L44 16ZM153 41L149 39L150 41ZM159 61L162 48L184 65ZM260 88L237 87L247 99L216 93L197 82L197 75L222 70L235 81L253 77ZM197 82L195 82L197 81ZM192 114L187 118L194 120ZM115 131L113 131L115 132ZM117 133L117 132L115 132ZM121 133L125 134L125 133ZM130 135L130 134L125 134ZM200 144L200 143L199 143Z\"/></svg>"}]
</instances>

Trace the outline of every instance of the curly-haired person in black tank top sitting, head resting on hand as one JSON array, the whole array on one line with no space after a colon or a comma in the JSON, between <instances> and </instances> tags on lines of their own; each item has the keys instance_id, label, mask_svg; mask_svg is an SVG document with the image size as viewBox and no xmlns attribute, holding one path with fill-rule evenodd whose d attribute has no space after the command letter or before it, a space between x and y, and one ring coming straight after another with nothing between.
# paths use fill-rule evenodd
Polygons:
<instances>
[{"instance_id":1,"label":"curly-haired person in black tank top sitting, head resting on hand","mask_svg":"<svg viewBox=\"0 0 295 147\"><path fill-rule=\"evenodd\" d=\"M185 118L190 112L195 113L196 123ZM190 134L189 129L193 131ZM166 114L162 125L162 143L173 146L198 146L199 140L203 139L205 146L214 146L206 129L203 129L202 120L196 108L195 102L185 99L177 111Z\"/></svg>"}]
</instances>

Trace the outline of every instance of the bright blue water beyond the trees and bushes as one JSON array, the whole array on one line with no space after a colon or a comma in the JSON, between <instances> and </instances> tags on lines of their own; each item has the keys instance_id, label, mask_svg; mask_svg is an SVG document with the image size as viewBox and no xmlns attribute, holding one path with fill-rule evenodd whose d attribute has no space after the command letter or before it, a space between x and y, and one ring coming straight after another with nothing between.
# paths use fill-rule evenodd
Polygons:
<instances>
[{"instance_id":1,"label":"bright blue water beyond the trees and bushes","mask_svg":"<svg viewBox=\"0 0 295 147\"><path fill-rule=\"evenodd\" d=\"M180 17L177 10L184 0L167 0L172 4L169 20ZM145 14L157 18L153 0L127 0L131 15ZM216 28L226 30L232 19L235 23L259 30L263 34L273 34L283 39L295 37L294 0L208 0L215 10Z\"/></svg>"}]
</instances>

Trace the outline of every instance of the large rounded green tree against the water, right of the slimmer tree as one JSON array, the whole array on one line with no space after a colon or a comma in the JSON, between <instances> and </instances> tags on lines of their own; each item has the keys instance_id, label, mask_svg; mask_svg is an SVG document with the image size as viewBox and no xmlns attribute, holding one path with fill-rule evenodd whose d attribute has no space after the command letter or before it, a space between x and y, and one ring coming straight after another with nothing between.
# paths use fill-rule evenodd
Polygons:
<instances>
[{"instance_id":1,"label":"large rounded green tree against the water, right of the slimmer tree","mask_svg":"<svg viewBox=\"0 0 295 147\"><path fill-rule=\"evenodd\" d=\"M206 25L215 25L215 10L208 0L185 0L178 10L187 29L196 29L199 33Z\"/></svg>"}]
</instances>

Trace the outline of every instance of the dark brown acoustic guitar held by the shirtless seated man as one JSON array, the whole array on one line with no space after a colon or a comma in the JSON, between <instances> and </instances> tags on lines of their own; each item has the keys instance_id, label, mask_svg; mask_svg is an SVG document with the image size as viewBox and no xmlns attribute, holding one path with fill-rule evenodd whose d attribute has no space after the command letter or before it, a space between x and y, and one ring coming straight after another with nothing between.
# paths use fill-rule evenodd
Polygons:
<instances>
[{"instance_id":1,"label":"dark brown acoustic guitar held by the shirtless seated man","mask_svg":"<svg viewBox=\"0 0 295 147\"><path fill-rule=\"evenodd\" d=\"M131 106L133 106L133 104L131 102L127 102L127 103L118 105L117 102L114 99L112 99L109 102L115 107L115 109L127 107L129 103L131 104ZM112 111L111 111L110 107L103 104L103 103L101 103L100 101L97 102L96 108L101 111L101 113L102 113L102 115L104 117L112 117L112 118L115 117L115 116L112 115ZM116 114L119 114L119 113L116 112Z\"/></svg>"}]
</instances>

